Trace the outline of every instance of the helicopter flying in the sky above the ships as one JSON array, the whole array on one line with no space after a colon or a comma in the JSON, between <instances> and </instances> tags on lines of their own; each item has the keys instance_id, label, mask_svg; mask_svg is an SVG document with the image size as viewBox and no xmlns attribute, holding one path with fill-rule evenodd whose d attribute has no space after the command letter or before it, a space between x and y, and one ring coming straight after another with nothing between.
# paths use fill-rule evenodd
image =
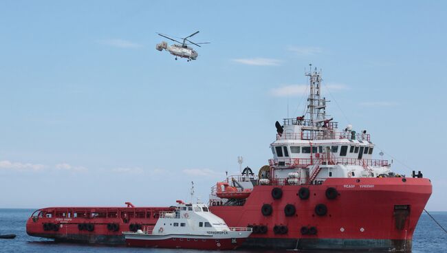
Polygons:
<instances>
[{"instance_id":1,"label":"helicopter flying in the sky above the ships","mask_svg":"<svg viewBox=\"0 0 447 253\"><path fill-rule=\"evenodd\" d=\"M188 61L195 60L195 59L197 59L197 56L199 56L199 54L197 54L197 51L193 50L193 48L189 47L188 45L197 45L197 47L200 47L199 44L209 44L210 43L210 42L194 43L193 41L188 40L188 38L190 38L198 33L199 33L199 31L191 34L190 36L186 36L184 38L179 38L179 39L182 39L183 42L172 39L172 38L166 36L165 34L157 33L158 35L160 35L166 39L169 39L171 41L177 42L179 44L168 45L168 43L166 43L166 41L162 41L161 43L158 43L155 46L155 49L158 51L166 50L166 51L170 52L171 54L175 55L175 60L177 60L177 57L187 58ZM188 42L188 43L186 43L186 42Z\"/></svg>"}]
</instances>

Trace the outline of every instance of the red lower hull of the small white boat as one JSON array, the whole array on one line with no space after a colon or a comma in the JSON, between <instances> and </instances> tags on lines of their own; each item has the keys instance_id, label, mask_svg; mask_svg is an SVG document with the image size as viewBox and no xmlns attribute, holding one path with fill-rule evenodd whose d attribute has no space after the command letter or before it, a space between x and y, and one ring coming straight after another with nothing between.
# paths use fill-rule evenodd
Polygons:
<instances>
[{"instance_id":1,"label":"red lower hull of the small white boat","mask_svg":"<svg viewBox=\"0 0 447 253\"><path fill-rule=\"evenodd\" d=\"M191 250L235 250L245 239L165 239L165 240L139 240L126 239L129 247L143 248L168 248L168 249L191 249Z\"/></svg>"}]
</instances>

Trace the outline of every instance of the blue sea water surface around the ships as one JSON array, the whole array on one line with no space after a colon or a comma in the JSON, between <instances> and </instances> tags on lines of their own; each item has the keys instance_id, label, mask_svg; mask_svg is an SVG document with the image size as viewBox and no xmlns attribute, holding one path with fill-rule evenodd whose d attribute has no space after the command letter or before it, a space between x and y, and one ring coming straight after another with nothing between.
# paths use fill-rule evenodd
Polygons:
<instances>
[{"instance_id":1,"label":"blue sea water surface around the ships","mask_svg":"<svg viewBox=\"0 0 447 253\"><path fill-rule=\"evenodd\" d=\"M190 252L204 253L204 250L165 250L146 248L125 248L124 246L87 245L74 243L55 243L49 239L40 239L26 234L25 223L34 210L30 209L0 209L0 234L17 234L16 239L0 239L0 252ZM433 212L435 219L447 228L447 212ZM236 252L250 252L237 250ZM252 252L259 252L253 250ZM268 251L265 251L268 252ZM271 251L273 252L273 251ZM274 252L281 252L275 250ZM289 252L283 250L282 252ZM303 251L301 251L303 252ZM315 252L315 251L314 251ZM447 234L437 224L422 214L413 238L413 252L447 252Z\"/></svg>"}]
</instances>

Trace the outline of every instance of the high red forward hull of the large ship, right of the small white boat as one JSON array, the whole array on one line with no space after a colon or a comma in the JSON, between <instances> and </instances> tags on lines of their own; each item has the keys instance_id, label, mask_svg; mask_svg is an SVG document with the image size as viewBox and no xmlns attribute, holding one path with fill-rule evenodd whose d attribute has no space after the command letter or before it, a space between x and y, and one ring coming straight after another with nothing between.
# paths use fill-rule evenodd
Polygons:
<instances>
[{"instance_id":1,"label":"high red forward hull of the large ship, right of the small white boat","mask_svg":"<svg viewBox=\"0 0 447 253\"><path fill-rule=\"evenodd\" d=\"M272 197L274 187L282 189L281 199ZM301 187L309 188L309 199L298 197ZM338 191L336 199L325 196L329 187ZM372 249L377 242L380 248L409 251L417 221L431 192L428 179L333 178L320 185L255 186L243 206L210 206L210 210L229 226L265 225L265 233L253 233L248 241L265 245L262 240L269 239L273 248L282 248L281 241L287 241L286 248L290 243L306 242L308 248L319 248L320 241L320 248L356 248L356 244L364 242ZM272 206L272 214L263 215L264 203ZM327 206L327 214L318 216L315 208L321 203ZM287 204L296 208L291 217L285 215ZM409 214L403 218L395 207L407 205ZM287 226L287 232L275 233L275 225ZM302 234L302 227L315 227L316 234Z\"/></svg>"}]
</instances>

